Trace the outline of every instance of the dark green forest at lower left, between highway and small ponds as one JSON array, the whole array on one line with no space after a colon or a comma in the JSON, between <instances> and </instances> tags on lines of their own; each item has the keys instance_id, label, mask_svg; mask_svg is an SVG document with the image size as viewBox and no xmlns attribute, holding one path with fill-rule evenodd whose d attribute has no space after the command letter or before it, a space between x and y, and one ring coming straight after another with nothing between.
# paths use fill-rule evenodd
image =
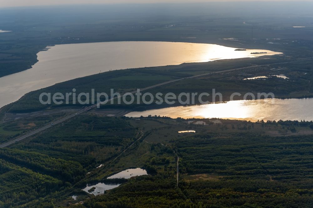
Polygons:
<instances>
[{"instance_id":1,"label":"dark green forest at lower left, between highway and small ponds","mask_svg":"<svg viewBox=\"0 0 313 208\"><path fill-rule=\"evenodd\" d=\"M0 207L53 207L135 138L125 119L86 116L0 149Z\"/></svg>"}]
</instances>

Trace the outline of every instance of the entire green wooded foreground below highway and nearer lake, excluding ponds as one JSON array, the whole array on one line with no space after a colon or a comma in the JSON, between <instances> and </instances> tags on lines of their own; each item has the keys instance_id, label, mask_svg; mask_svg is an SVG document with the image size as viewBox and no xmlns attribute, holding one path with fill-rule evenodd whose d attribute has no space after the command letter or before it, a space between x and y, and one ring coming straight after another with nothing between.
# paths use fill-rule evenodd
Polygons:
<instances>
[{"instance_id":1,"label":"entire green wooded foreground below highway and nearer lake, excluding ponds","mask_svg":"<svg viewBox=\"0 0 313 208\"><path fill-rule=\"evenodd\" d=\"M77 116L28 141L0 149L0 205L38 208L313 205L311 122L220 121L223 125L193 125L184 119L162 117L136 121L125 117ZM144 137L136 141L141 138L136 131L138 126L142 127ZM196 133L177 133L183 129ZM282 129L288 130L290 136L270 136ZM99 164L103 166L95 168ZM145 168L150 175L106 180L133 167ZM87 183L101 181L118 182L121 186L100 196L81 191ZM72 195L78 199L72 199ZM80 201L84 204L75 205Z\"/></svg>"}]
</instances>

